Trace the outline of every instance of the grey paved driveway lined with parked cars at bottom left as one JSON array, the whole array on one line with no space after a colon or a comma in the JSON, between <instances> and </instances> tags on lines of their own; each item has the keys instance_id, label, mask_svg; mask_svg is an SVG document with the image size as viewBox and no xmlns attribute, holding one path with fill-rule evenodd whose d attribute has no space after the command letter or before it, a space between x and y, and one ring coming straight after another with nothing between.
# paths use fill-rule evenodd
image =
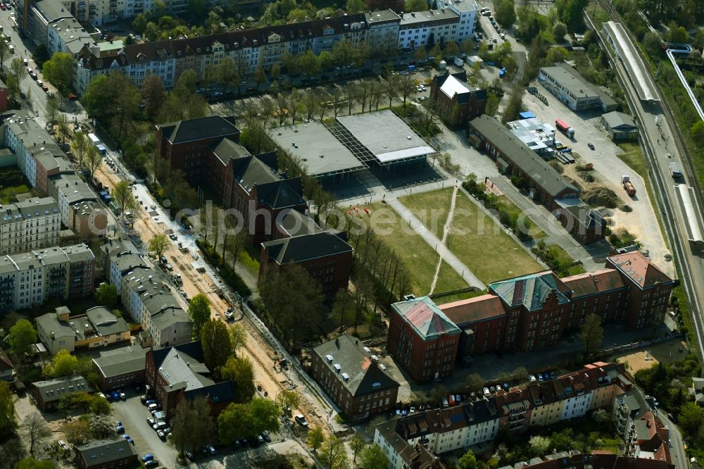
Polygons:
<instances>
[{"instance_id":1,"label":"grey paved driveway lined with parked cars at bottom left","mask_svg":"<svg viewBox=\"0 0 704 469\"><path fill-rule=\"evenodd\" d=\"M139 401L139 396L142 394L135 392L134 388L124 390L127 393L127 400L113 402L115 419L122 421L125 434L129 434L134 439L134 449L137 450L139 457L151 453L161 465L175 468L176 450L169 444L162 442L156 432L146 423L146 419L151 417L151 413Z\"/></svg>"}]
</instances>

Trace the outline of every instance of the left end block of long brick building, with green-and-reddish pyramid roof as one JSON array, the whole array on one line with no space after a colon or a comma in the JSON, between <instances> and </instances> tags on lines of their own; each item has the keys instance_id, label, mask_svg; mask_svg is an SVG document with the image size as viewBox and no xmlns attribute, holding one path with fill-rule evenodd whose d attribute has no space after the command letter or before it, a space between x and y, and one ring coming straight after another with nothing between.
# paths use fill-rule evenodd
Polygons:
<instances>
[{"instance_id":1,"label":"left end block of long brick building, with green-and-reddish pyramid roof","mask_svg":"<svg viewBox=\"0 0 704 469\"><path fill-rule=\"evenodd\" d=\"M392 306L386 348L416 382L451 377L461 330L427 296Z\"/></svg>"}]
</instances>

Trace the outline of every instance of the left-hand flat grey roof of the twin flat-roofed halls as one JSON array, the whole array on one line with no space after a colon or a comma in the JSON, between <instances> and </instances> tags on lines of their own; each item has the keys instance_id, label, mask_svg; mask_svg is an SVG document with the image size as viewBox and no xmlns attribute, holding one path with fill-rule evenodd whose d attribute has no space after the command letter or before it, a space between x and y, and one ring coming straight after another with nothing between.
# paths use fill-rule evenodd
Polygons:
<instances>
[{"instance_id":1,"label":"left-hand flat grey roof of the twin flat-roofed halls","mask_svg":"<svg viewBox=\"0 0 704 469\"><path fill-rule=\"evenodd\" d=\"M270 129L269 135L301 160L308 175L326 176L367 168L318 121L277 127Z\"/></svg>"}]
</instances>

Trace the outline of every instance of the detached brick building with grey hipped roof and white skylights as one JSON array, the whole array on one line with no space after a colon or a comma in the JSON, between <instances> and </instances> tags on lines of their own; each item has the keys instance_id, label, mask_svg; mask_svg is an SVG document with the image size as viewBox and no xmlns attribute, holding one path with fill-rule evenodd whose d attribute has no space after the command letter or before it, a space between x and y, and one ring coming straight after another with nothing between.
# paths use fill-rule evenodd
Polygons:
<instances>
[{"instance_id":1,"label":"detached brick building with grey hipped roof and white skylights","mask_svg":"<svg viewBox=\"0 0 704 469\"><path fill-rule=\"evenodd\" d=\"M387 413L396 406L399 384L379 358L346 334L313 349L310 374L351 419Z\"/></svg>"}]
</instances>

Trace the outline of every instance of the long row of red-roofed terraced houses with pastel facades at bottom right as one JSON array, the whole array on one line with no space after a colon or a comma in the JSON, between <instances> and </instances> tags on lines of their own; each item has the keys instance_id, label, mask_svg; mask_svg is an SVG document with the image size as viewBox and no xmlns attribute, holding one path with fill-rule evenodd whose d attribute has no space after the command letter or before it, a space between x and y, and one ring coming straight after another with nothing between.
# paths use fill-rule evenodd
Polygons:
<instances>
[{"instance_id":1,"label":"long row of red-roofed terraced houses with pastel facades at bottom right","mask_svg":"<svg viewBox=\"0 0 704 469\"><path fill-rule=\"evenodd\" d=\"M375 427L374 442L389 458L391 467L404 467L396 461L407 460L402 455L417 447L434 455L466 451L470 446L493 441L501 428L524 433L531 426L552 425L615 405L612 403L623 400L620 394L628 395L624 392L631 388L623 373L622 365L596 362L555 380L502 389L488 396L472 394L455 406L381 423ZM640 417L645 411L633 415Z\"/></svg>"}]
</instances>

